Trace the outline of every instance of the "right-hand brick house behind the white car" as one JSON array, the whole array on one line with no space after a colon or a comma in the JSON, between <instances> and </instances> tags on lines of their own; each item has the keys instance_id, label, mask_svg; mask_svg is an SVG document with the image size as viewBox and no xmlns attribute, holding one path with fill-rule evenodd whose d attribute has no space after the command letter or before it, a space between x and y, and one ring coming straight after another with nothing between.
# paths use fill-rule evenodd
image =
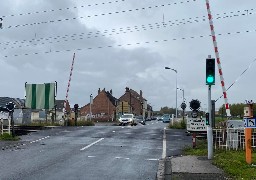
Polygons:
<instances>
[{"instance_id":1,"label":"right-hand brick house behind the white car","mask_svg":"<svg viewBox=\"0 0 256 180\"><path fill-rule=\"evenodd\" d=\"M119 102L126 101L131 106L131 112L135 115L142 115L143 113L143 102L146 99L142 96L142 91L137 93L133 89L128 87L125 88L125 93L119 98Z\"/></svg>"}]
</instances>

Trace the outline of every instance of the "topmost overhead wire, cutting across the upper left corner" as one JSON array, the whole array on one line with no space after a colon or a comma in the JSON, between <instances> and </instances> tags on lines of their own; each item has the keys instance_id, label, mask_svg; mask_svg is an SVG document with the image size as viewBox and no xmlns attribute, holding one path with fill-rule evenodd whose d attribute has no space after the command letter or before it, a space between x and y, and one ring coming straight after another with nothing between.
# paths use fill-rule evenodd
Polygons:
<instances>
[{"instance_id":1,"label":"topmost overhead wire, cutting across the upper left corner","mask_svg":"<svg viewBox=\"0 0 256 180\"><path fill-rule=\"evenodd\" d=\"M20 13L20 14L11 14L11 15L4 15L4 16L2 16L2 18L14 17L14 16L24 16L24 15L33 15L33 14L40 14L40 13L50 13L50 12L56 12L56 11L65 11L65 10L70 10L70 9L78 9L78 8L85 8L85 7L91 7L91 6L106 5L106 4L118 3L118 2L124 2L124 1L125 0L119 0L119 1L116 0L116 1L108 1L108 2L103 2L103 3L87 4L87 5L74 6L74 7L66 7L66 8L59 8L59 9L34 11L34 12L26 12L26 13Z\"/></svg>"}]
</instances>

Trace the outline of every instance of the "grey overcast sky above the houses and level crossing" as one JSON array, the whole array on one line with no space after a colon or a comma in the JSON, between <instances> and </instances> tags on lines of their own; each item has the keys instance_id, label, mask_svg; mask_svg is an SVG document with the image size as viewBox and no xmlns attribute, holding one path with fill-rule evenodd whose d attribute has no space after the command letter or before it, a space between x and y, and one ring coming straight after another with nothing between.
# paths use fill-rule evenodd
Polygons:
<instances>
[{"instance_id":1,"label":"grey overcast sky above the houses and level crossing","mask_svg":"<svg viewBox=\"0 0 256 180\"><path fill-rule=\"evenodd\" d=\"M210 5L226 88L237 80L228 102L255 102L256 1ZM87 104L98 88L119 98L130 87L154 110L175 108L176 73L168 66L178 72L187 105L198 99L207 107L205 59L215 54L204 0L4 0L0 17L2 97L24 98L25 82L57 81L57 99L64 100L76 53L71 105ZM216 77L212 99L222 95L217 66ZM177 99L179 107L180 90Z\"/></svg>"}]
</instances>

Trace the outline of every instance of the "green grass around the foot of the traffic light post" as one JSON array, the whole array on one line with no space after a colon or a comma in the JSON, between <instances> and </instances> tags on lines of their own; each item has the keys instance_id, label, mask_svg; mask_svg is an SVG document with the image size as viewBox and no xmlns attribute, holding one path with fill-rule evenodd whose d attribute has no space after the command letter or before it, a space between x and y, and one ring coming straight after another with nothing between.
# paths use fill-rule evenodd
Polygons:
<instances>
[{"instance_id":1,"label":"green grass around the foot of the traffic light post","mask_svg":"<svg viewBox=\"0 0 256 180\"><path fill-rule=\"evenodd\" d=\"M197 140L196 148L187 146L183 149L185 155L207 156L207 152L206 140ZM252 154L252 160L252 164L256 164L256 153ZM256 179L256 167L246 163L245 150L214 150L213 164L223 169L231 179Z\"/></svg>"}]
</instances>

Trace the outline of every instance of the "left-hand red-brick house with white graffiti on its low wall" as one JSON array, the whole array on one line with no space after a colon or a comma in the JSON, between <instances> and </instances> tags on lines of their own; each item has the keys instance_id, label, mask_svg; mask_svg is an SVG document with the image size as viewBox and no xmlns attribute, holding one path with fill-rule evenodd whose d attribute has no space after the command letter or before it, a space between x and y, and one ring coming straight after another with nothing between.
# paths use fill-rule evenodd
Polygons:
<instances>
[{"instance_id":1,"label":"left-hand red-brick house with white graffiti on its low wall","mask_svg":"<svg viewBox=\"0 0 256 180\"><path fill-rule=\"evenodd\" d=\"M105 88L98 90L98 95L93 98L91 105L92 119L97 121L112 121L115 120L116 104L118 99L112 95L112 90L106 91ZM81 117L90 117L90 103L81 107Z\"/></svg>"}]
</instances>

